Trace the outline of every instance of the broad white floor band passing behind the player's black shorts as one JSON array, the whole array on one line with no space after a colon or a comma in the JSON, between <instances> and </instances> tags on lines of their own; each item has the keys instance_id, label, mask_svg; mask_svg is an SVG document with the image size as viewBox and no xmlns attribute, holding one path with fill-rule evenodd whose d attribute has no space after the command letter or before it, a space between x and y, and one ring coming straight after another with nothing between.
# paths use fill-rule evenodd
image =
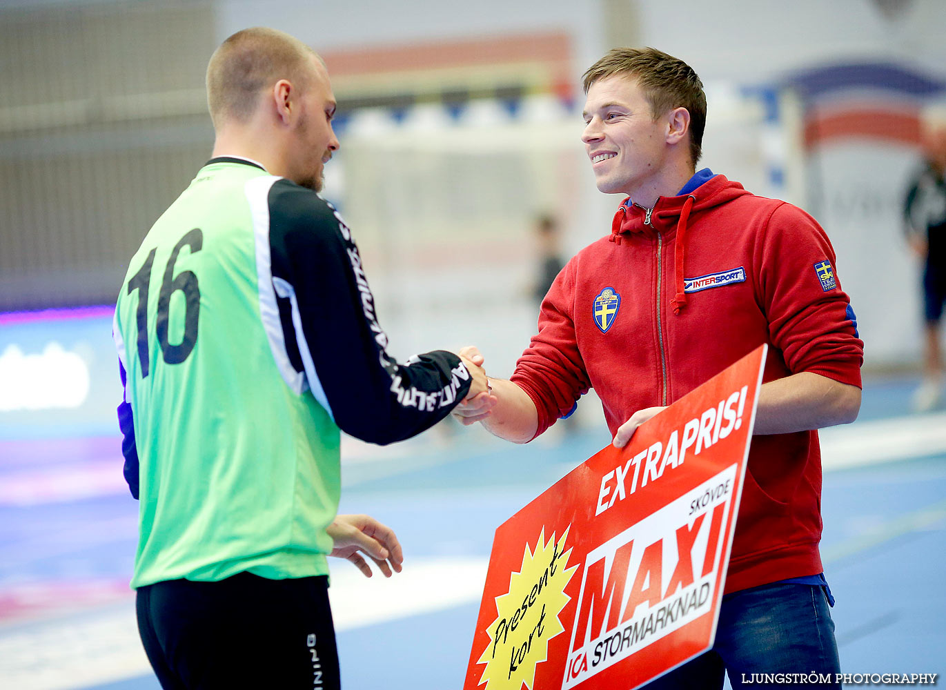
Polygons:
<instances>
[{"instance_id":1,"label":"broad white floor band passing behind the player's black shorts","mask_svg":"<svg viewBox=\"0 0 946 690\"><path fill-rule=\"evenodd\" d=\"M333 563L329 597L337 630L376 625L478 602L486 557L417 557L391 578L366 578ZM449 583L445 585L445 583ZM134 607L0 628L0 684L16 690L70 690L150 673Z\"/></svg>"}]
</instances>

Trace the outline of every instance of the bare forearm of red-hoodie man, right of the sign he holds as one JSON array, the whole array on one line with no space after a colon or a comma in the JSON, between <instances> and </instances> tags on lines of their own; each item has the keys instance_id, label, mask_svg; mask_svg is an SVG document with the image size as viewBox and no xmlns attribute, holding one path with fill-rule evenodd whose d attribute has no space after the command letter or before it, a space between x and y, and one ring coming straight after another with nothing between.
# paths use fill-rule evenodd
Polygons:
<instances>
[{"instance_id":1,"label":"bare forearm of red-hoodie man, right of the sign he holds","mask_svg":"<svg viewBox=\"0 0 946 690\"><path fill-rule=\"evenodd\" d=\"M850 424L861 407L861 389L803 371L762 384L755 432L793 433Z\"/></svg>"}]
</instances>

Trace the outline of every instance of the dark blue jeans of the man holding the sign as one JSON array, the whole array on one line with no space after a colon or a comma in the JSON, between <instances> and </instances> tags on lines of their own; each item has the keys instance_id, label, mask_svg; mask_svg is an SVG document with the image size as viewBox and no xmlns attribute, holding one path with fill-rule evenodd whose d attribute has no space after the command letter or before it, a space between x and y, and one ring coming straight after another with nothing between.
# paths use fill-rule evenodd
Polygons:
<instances>
[{"instance_id":1,"label":"dark blue jeans of the man holding the sign","mask_svg":"<svg viewBox=\"0 0 946 690\"><path fill-rule=\"evenodd\" d=\"M684 663L646 690L720 690L724 672L733 690L772 685L752 674L834 674L841 664L834 642L834 622L823 587L771 584L723 597L716 643L707 653ZM745 684L743 682L745 674ZM778 685L779 690L795 685ZM804 683L797 687L840 688L840 683Z\"/></svg>"}]
</instances>

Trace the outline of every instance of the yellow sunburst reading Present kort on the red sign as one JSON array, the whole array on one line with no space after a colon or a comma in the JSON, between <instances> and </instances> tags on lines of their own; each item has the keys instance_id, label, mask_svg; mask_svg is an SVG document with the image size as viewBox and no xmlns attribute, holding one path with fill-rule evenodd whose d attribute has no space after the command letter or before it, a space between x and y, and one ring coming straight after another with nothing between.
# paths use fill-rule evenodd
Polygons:
<instances>
[{"instance_id":1,"label":"yellow sunburst reading Present kort on the red sign","mask_svg":"<svg viewBox=\"0 0 946 690\"><path fill-rule=\"evenodd\" d=\"M486 690L520 690L525 683L532 690L535 665L548 658L549 641L565 631L558 614L569 603L565 588L577 565L569 569L565 540L545 540L545 527L535 542L535 552L526 542L522 567L509 575L509 592L496 597L496 620L489 624L489 646L480 661L486 668L480 683Z\"/></svg>"}]
</instances>

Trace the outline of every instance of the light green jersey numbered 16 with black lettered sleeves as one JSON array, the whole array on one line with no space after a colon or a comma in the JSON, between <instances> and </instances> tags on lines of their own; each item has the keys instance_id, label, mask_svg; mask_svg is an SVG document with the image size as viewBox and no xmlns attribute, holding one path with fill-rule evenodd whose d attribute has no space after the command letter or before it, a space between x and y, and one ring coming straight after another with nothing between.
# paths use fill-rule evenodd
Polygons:
<instances>
[{"instance_id":1,"label":"light green jersey numbered 16 with black lettered sleeves","mask_svg":"<svg viewBox=\"0 0 946 690\"><path fill-rule=\"evenodd\" d=\"M419 433L465 395L459 358L386 351L358 248L315 192L210 161L131 258L114 316L132 587L327 574L340 427Z\"/></svg>"}]
</instances>

